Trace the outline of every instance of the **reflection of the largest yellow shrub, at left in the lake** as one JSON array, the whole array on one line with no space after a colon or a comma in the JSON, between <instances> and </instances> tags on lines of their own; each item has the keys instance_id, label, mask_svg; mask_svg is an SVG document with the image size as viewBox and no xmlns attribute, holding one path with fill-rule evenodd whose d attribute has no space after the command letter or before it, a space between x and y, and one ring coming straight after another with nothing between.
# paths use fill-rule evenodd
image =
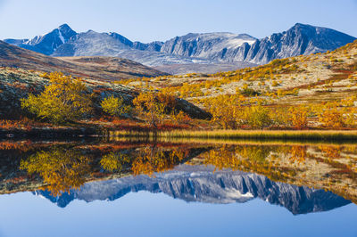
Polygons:
<instances>
[{"instance_id":1,"label":"reflection of the largest yellow shrub, at left in the lake","mask_svg":"<svg viewBox=\"0 0 357 237\"><path fill-rule=\"evenodd\" d=\"M57 196L84 184L89 164L87 157L78 151L54 148L21 160L21 169L26 169L29 174L37 173L48 184L46 189Z\"/></svg>"}]
</instances>

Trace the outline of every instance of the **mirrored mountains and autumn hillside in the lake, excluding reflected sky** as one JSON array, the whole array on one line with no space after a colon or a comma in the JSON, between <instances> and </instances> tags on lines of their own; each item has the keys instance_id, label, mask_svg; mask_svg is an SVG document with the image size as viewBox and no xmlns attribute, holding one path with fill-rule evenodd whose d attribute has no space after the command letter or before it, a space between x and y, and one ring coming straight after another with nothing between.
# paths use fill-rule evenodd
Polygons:
<instances>
[{"instance_id":1,"label":"mirrored mountains and autumn hillside in the lake, excluding reflected sky","mask_svg":"<svg viewBox=\"0 0 357 237\"><path fill-rule=\"evenodd\" d=\"M254 198L293 214L357 201L357 145L305 143L0 143L0 193L71 200L163 192L207 203Z\"/></svg>"}]
</instances>

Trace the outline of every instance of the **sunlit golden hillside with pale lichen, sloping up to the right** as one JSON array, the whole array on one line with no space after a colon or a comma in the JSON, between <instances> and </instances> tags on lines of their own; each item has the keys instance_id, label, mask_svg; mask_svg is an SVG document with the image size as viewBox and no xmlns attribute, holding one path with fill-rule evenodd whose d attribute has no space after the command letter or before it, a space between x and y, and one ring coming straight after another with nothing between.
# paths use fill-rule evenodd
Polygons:
<instances>
[{"instance_id":1,"label":"sunlit golden hillside with pale lichen, sloping up to the right","mask_svg":"<svg viewBox=\"0 0 357 237\"><path fill-rule=\"evenodd\" d=\"M212 114L209 128L355 129L356 56L357 41L255 68L140 78L126 85L150 84L195 103Z\"/></svg>"}]
</instances>

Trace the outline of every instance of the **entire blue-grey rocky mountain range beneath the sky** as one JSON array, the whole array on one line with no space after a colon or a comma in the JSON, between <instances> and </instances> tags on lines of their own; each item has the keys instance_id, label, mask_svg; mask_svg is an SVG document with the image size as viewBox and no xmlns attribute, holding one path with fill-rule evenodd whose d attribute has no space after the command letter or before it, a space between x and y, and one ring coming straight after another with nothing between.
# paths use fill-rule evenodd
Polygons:
<instances>
[{"instance_id":1,"label":"entire blue-grey rocky mountain range beneath the sky","mask_svg":"<svg viewBox=\"0 0 357 237\"><path fill-rule=\"evenodd\" d=\"M56 57L112 56L146 66L210 64L220 68L247 67L300 54L323 53L353 42L355 37L334 29L296 23L291 29L258 39L247 34L189 33L165 42L133 42L118 33L93 30L77 33L63 24L32 39L4 39L6 43ZM245 64L240 62L245 61ZM251 64L247 64L251 63ZM218 65L218 66L217 66Z\"/></svg>"}]
</instances>

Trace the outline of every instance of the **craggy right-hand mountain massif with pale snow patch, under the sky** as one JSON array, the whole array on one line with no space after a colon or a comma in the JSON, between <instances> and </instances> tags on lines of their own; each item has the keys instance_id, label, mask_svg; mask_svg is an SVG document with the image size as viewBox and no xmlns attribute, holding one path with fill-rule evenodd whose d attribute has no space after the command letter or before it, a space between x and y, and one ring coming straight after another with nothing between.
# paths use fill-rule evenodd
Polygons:
<instances>
[{"instance_id":1,"label":"craggy right-hand mountain massif with pale snow patch, under the sky","mask_svg":"<svg viewBox=\"0 0 357 237\"><path fill-rule=\"evenodd\" d=\"M214 37L213 37L214 36ZM218 61L250 61L264 64L274 59L323 53L353 42L354 37L334 29L300 23L282 33L254 40L248 35L188 34L162 45L162 52ZM227 39L228 37L228 39Z\"/></svg>"}]
</instances>

